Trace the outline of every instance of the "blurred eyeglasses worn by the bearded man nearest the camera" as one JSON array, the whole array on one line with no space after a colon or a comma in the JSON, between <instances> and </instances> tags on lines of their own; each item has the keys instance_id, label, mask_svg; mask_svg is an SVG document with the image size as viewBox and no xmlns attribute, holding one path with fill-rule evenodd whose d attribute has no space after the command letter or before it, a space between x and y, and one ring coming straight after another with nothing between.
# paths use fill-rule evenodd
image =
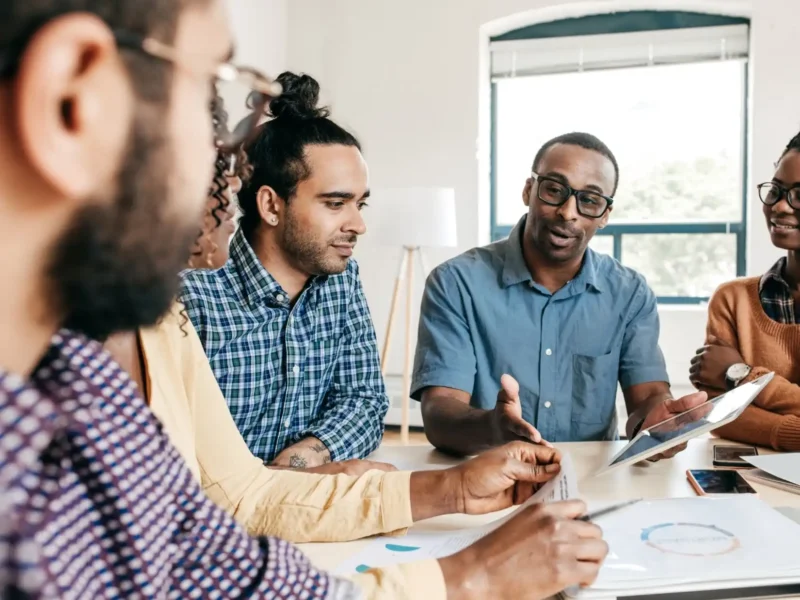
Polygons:
<instances>
[{"instance_id":1,"label":"blurred eyeglasses worn by the bearded man nearest the camera","mask_svg":"<svg viewBox=\"0 0 800 600\"><path fill-rule=\"evenodd\" d=\"M182 56L174 46L160 42L155 38L142 37L123 29L115 29L112 33L120 49L136 50L175 66L182 66L188 62L186 57ZM5 51L0 50L0 80L15 74L19 66L19 58L24 52L26 43L17 42L6 48ZM260 71L250 67L237 66L229 61L218 62L213 67L209 65L205 74L215 84L218 81L228 83L238 81L252 90L246 103L246 108L251 112L236 125L233 132L228 132L229 139L227 141L222 139L218 131L214 135L215 145L218 150L235 152L250 140L257 130L261 117L264 115L270 101L280 96L283 89L280 83L270 79Z\"/></svg>"}]
</instances>

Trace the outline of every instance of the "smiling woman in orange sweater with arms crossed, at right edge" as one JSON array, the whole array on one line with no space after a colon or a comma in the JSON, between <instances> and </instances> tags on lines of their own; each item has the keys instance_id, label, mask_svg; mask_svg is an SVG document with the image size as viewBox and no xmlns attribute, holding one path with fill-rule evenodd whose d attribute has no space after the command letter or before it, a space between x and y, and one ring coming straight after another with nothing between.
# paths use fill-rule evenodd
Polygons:
<instances>
[{"instance_id":1,"label":"smiling woman in orange sweater with arms crossed, at right edge","mask_svg":"<svg viewBox=\"0 0 800 600\"><path fill-rule=\"evenodd\" d=\"M726 438L800 450L800 134L772 181L758 186L775 247L787 251L761 277L725 283L708 306L706 345L692 359L697 389L719 395L774 371L775 378L733 423Z\"/></svg>"}]
</instances>

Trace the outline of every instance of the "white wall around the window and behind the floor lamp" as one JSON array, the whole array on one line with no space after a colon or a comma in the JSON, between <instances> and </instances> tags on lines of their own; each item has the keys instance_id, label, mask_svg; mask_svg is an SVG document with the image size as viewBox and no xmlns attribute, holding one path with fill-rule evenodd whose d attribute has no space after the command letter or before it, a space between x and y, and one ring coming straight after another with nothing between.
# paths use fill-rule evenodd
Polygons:
<instances>
[{"instance_id":1,"label":"white wall around the window and behind the floor lamp","mask_svg":"<svg viewBox=\"0 0 800 600\"><path fill-rule=\"evenodd\" d=\"M478 144L488 122L486 57L481 52L487 35L534 20L636 8L752 18L751 189L771 177L773 162L800 128L793 41L800 26L797 0L291 0L288 66L316 77L334 118L360 137L373 187L456 189L458 250L463 250L488 236L488 161ZM498 22L525 11L529 14L524 18ZM777 254L756 197L750 206L748 271L759 273ZM455 252L429 252L428 258L436 264ZM399 257L399 250L380 248L369 234L357 255L381 341ZM416 286L418 307L421 277ZM391 373L402 371L402 315L398 325ZM702 308L662 310L662 347L678 385L688 383L689 358L702 343L704 326Z\"/></svg>"}]
</instances>

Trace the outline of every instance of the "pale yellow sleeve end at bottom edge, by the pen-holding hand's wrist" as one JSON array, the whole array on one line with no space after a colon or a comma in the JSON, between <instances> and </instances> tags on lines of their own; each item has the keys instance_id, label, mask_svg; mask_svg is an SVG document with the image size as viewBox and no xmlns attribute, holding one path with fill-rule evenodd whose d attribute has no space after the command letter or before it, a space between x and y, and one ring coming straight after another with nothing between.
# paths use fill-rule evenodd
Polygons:
<instances>
[{"instance_id":1,"label":"pale yellow sleeve end at bottom edge, by the pen-holding hand's wrist","mask_svg":"<svg viewBox=\"0 0 800 600\"><path fill-rule=\"evenodd\" d=\"M352 580L365 600L447 600L444 576L436 560L371 569Z\"/></svg>"}]
</instances>

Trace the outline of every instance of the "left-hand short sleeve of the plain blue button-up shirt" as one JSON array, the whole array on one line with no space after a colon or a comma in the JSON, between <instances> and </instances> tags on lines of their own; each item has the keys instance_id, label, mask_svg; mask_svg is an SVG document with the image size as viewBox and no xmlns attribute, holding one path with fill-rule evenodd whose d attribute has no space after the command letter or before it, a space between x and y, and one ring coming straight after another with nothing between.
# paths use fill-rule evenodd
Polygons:
<instances>
[{"instance_id":1,"label":"left-hand short sleeve of the plain blue button-up shirt","mask_svg":"<svg viewBox=\"0 0 800 600\"><path fill-rule=\"evenodd\" d=\"M411 383L411 397L415 400L432 386L472 393L476 361L465 311L468 295L446 264L428 277Z\"/></svg>"}]
</instances>

